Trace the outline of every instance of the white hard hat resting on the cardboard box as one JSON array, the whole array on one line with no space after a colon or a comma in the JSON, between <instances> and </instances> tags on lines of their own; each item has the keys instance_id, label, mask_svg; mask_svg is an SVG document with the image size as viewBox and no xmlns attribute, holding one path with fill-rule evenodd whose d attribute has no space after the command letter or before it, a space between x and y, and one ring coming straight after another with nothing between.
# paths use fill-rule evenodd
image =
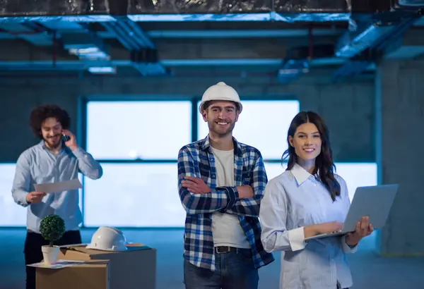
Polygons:
<instances>
[{"instance_id":1,"label":"white hard hat resting on the cardboard box","mask_svg":"<svg viewBox=\"0 0 424 289\"><path fill-rule=\"evenodd\" d=\"M113 227L98 228L87 249L102 251L126 251L126 238L121 230Z\"/></svg>"}]
</instances>

